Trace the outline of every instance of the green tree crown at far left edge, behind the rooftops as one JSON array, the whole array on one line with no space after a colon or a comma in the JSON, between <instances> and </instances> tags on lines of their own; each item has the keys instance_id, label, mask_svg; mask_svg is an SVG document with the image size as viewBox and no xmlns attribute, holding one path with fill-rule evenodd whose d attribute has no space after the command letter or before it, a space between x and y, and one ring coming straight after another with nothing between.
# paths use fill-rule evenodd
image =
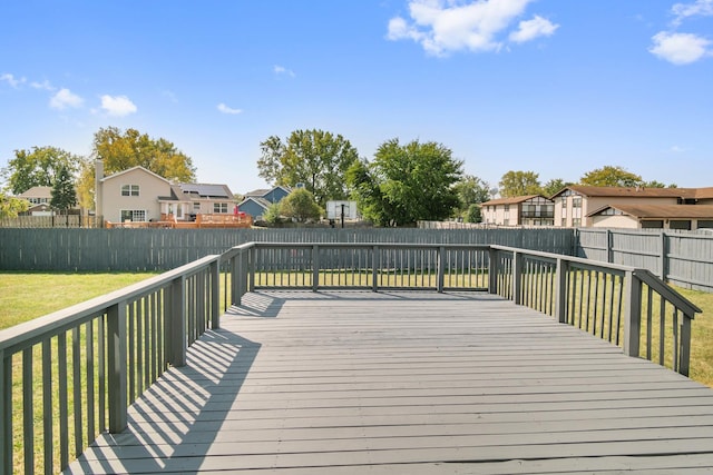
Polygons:
<instances>
[{"instance_id":1,"label":"green tree crown at far left edge, behind the rooftops","mask_svg":"<svg viewBox=\"0 0 713 475\"><path fill-rule=\"evenodd\" d=\"M19 195L32 187L51 187L61 168L70 175L77 172L81 158L57 147L32 147L31 150L14 150L14 158L2 169L8 189Z\"/></svg>"}]
</instances>

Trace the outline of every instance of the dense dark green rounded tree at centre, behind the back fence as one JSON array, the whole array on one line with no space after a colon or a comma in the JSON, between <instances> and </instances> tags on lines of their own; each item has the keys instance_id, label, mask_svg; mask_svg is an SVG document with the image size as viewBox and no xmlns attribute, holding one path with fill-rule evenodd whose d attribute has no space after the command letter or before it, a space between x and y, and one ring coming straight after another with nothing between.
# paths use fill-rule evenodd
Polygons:
<instances>
[{"instance_id":1,"label":"dense dark green rounded tree at centre, behind the back fence","mask_svg":"<svg viewBox=\"0 0 713 475\"><path fill-rule=\"evenodd\" d=\"M456 184L462 177L462 161L451 155L436 142L383 142L371 164L358 161L348 172L362 215L380 226L451 216L460 204Z\"/></svg>"}]
</instances>

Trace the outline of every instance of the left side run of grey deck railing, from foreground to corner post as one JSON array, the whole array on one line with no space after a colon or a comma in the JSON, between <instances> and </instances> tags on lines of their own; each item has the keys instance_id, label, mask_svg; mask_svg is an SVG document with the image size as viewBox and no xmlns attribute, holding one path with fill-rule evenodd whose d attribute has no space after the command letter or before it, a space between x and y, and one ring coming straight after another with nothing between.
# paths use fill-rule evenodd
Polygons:
<instances>
[{"instance_id":1,"label":"left side run of grey deck railing, from foreground to corner post","mask_svg":"<svg viewBox=\"0 0 713 475\"><path fill-rule=\"evenodd\" d=\"M218 326L218 256L0 331L0 473L57 473ZM58 469L59 468L59 469Z\"/></svg>"}]
</instances>

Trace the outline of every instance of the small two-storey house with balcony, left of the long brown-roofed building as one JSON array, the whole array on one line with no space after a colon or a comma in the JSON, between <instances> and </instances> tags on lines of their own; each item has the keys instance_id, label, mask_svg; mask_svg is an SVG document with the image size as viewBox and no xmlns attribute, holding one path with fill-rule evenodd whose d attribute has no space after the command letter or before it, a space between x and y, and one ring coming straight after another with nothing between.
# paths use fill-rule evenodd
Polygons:
<instances>
[{"instance_id":1,"label":"small two-storey house with balcony, left of the long brown-roofed building","mask_svg":"<svg viewBox=\"0 0 713 475\"><path fill-rule=\"evenodd\" d=\"M496 226L553 226L555 205L541 195L491 199L480 205L482 222Z\"/></svg>"}]
</instances>

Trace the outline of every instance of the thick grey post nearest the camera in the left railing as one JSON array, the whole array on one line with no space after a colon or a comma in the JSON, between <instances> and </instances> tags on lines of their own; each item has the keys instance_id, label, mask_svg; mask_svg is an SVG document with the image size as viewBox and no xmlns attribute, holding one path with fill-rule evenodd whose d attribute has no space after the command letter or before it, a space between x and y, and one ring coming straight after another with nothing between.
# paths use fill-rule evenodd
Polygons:
<instances>
[{"instance_id":1,"label":"thick grey post nearest the camera in the left railing","mask_svg":"<svg viewBox=\"0 0 713 475\"><path fill-rule=\"evenodd\" d=\"M109 432L118 434L127 426L127 339L126 301L107 310Z\"/></svg>"}]
</instances>

